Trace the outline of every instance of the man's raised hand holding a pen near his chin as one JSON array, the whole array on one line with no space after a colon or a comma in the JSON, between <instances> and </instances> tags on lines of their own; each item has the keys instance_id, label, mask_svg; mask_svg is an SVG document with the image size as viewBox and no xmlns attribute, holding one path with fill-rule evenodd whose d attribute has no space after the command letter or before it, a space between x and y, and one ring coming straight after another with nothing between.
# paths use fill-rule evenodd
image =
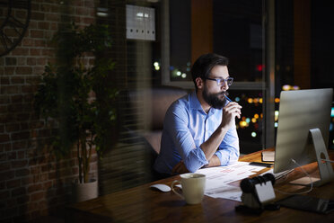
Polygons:
<instances>
[{"instance_id":1,"label":"man's raised hand holding a pen near his chin","mask_svg":"<svg viewBox=\"0 0 334 223\"><path fill-rule=\"evenodd\" d=\"M221 123L221 127L225 127L230 129L235 125L235 117L241 118L242 115L242 106L239 103L228 103L223 108L223 119Z\"/></svg>"}]
</instances>

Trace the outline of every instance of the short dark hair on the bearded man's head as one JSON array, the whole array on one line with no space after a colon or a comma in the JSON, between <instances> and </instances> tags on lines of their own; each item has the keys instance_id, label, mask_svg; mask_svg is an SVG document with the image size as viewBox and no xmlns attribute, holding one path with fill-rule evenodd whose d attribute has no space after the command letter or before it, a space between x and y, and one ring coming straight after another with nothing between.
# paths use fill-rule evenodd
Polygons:
<instances>
[{"instance_id":1,"label":"short dark hair on the bearded man's head","mask_svg":"<svg viewBox=\"0 0 334 223\"><path fill-rule=\"evenodd\" d=\"M191 67L191 76L196 90L198 89L196 79L200 77L202 80L206 80L207 77L210 76L211 69L216 65L227 66L228 58L215 53L207 53L203 54L195 61L194 65Z\"/></svg>"}]
</instances>

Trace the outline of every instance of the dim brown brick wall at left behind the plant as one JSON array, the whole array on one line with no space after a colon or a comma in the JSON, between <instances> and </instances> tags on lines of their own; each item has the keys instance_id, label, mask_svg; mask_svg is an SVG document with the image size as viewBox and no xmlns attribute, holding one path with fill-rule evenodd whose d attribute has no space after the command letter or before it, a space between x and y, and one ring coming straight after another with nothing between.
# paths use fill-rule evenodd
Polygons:
<instances>
[{"instance_id":1,"label":"dim brown brick wall at left behind the plant","mask_svg":"<svg viewBox=\"0 0 334 223\"><path fill-rule=\"evenodd\" d=\"M51 132L33 112L33 96L44 66L55 59L49 40L59 22L93 23L94 6L94 0L32 0L25 37L0 58L1 222L37 219L70 202L71 183L78 174L75 151L62 160L50 153ZM97 177L96 154L91 168Z\"/></svg>"}]
</instances>

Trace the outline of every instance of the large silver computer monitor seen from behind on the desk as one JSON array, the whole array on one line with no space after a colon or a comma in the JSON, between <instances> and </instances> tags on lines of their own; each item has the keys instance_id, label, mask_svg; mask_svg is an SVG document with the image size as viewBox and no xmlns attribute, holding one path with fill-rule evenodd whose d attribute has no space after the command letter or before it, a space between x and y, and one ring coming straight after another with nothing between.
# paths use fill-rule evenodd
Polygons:
<instances>
[{"instance_id":1,"label":"large silver computer monitor seen from behind on the desk","mask_svg":"<svg viewBox=\"0 0 334 223\"><path fill-rule=\"evenodd\" d=\"M333 89L281 92L274 173L318 161L323 184L334 177L327 148ZM296 161L294 164L293 160Z\"/></svg>"}]
</instances>

